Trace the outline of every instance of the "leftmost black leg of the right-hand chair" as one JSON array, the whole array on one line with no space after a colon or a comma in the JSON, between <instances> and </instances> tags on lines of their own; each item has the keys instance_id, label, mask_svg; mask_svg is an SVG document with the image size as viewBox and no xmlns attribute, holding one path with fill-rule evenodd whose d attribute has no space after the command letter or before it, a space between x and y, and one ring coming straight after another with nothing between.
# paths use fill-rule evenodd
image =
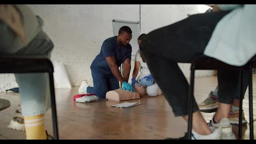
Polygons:
<instances>
[{"instance_id":1,"label":"leftmost black leg of the right-hand chair","mask_svg":"<svg viewBox=\"0 0 256 144\"><path fill-rule=\"evenodd\" d=\"M194 97L194 76L195 67L191 66L190 71L190 88L188 97L188 140L191 140L192 136L192 122L193 122L193 97Z\"/></svg>"}]
</instances>

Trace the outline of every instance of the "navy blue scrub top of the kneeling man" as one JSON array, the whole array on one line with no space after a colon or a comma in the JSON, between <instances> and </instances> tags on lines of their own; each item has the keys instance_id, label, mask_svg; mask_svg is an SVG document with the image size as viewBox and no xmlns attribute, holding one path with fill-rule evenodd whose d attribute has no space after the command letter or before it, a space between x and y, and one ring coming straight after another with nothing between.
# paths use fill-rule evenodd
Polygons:
<instances>
[{"instance_id":1,"label":"navy blue scrub top of the kneeling man","mask_svg":"<svg viewBox=\"0 0 256 144\"><path fill-rule=\"evenodd\" d=\"M100 53L96 56L91 64L91 70L94 73L109 75L112 71L105 57L115 57L115 61L120 65L126 58L131 58L132 47L130 44L120 47L117 42L117 36L104 40Z\"/></svg>"}]
</instances>

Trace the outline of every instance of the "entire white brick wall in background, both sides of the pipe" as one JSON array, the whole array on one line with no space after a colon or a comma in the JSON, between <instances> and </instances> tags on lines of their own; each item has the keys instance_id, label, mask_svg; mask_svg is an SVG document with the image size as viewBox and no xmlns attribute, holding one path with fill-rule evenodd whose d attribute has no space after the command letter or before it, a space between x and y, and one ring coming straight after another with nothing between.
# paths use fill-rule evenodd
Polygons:
<instances>
[{"instance_id":1,"label":"entire white brick wall in background, both sides of the pipe","mask_svg":"<svg viewBox=\"0 0 256 144\"><path fill-rule=\"evenodd\" d=\"M92 82L90 64L104 39L113 36L112 20L139 21L139 5L28 5L44 20L44 31L54 41L52 60L65 65L72 86L84 79ZM202 13L202 5L141 5L141 31L182 20L187 14ZM188 76L189 65L180 65ZM133 70L133 63L132 63ZM131 73L132 73L131 70ZM210 72L197 75L212 75ZM12 74L0 75L0 91L16 87Z\"/></svg>"}]
</instances>

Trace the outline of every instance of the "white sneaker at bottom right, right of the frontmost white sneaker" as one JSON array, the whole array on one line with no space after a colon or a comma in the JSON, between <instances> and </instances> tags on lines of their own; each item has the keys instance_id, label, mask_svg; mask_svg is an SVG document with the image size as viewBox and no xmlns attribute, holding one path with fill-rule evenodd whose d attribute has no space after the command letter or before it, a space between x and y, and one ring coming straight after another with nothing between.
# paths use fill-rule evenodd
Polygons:
<instances>
[{"instance_id":1,"label":"white sneaker at bottom right, right of the frontmost white sneaker","mask_svg":"<svg viewBox=\"0 0 256 144\"><path fill-rule=\"evenodd\" d=\"M218 123L214 123L213 119L208 123L213 129L221 129L221 139L222 140L236 140L236 136L232 131L232 126L228 118L222 118Z\"/></svg>"}]
</instances>

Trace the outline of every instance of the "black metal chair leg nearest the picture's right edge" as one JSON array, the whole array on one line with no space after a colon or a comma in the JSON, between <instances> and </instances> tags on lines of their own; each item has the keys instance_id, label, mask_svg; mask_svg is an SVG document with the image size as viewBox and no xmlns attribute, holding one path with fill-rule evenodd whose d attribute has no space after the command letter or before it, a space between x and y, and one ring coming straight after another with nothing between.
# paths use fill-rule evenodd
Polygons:
<instances>
[{"instance_id":1,"label":"black metal chair leg nearest the picture's right edge","mask_svg":"<svg viewBox=\"0 0 256 144\"><path fill-rule=\"evenodd\" d=\"M249 125L250 125L250 140L253 140L253 95L252 95L252 64L249 68Z\"/></svg>"}]
</instances>

